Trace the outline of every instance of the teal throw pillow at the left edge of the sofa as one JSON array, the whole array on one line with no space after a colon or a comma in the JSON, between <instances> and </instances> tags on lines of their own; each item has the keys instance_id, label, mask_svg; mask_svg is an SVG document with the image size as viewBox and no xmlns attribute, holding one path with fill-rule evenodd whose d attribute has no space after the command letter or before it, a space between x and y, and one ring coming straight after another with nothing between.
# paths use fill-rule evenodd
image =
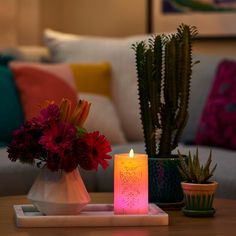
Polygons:
<instances>
[{"instance_id":1,"label":"teal throw pillow at the left edge of the sofa","mask_svg":"<svg viewBox=\"0 0 236 236\"><path fill-rule=\"evenodd\" d=\"M6 66L0 66L0 146L11 140L12 131L24 121L13 74Z\"/></svg>"}]
</instances>

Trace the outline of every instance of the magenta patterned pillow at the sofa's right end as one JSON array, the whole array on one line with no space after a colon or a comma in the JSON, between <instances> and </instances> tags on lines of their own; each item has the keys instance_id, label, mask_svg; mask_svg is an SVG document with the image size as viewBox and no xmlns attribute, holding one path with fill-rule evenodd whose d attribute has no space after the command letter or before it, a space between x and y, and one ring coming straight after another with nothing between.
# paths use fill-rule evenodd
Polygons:
<instances>
[{"instance_id":1,"label":"magenta patterned pillow at the sofa's right end","mask_svg":"<svg viewBox=\"0 0 236 236\"><path fill-rule=\"evenodd\" d=\"M236 61L224 60L218 66L196 143L236 149Z\"/></svg>"}]
</instances>

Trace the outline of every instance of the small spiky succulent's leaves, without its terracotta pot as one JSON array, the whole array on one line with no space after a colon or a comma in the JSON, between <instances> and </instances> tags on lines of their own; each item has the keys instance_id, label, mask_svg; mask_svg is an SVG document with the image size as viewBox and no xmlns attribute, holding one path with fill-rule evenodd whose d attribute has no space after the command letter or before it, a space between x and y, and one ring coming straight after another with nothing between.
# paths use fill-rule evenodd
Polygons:
<instances>
[{"instance_id":1,"label":"small spiky succulent's leaves, without its terracotta pot","mask_svg":"<svg viewBox=\"0 0 236 236\"><path fill-rule=\"evenodd\" d=\"M212 152L210 151L209 157L205 165L201 165L198 156L198 149L196 154L192 155L189 152L188 158L178 152L180 158L179 172L183 179L188 183L204 184L208 183L208 180L213 176L213 173L216 169L217 164L210 169L212 162Z\"/></svg>"}]
</instances>

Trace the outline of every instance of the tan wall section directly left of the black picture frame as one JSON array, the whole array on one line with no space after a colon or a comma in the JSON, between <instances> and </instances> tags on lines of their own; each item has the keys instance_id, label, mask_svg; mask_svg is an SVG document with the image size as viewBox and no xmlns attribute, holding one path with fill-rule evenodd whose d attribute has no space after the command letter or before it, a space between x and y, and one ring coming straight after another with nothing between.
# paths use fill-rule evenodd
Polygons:
<instances>
[{"instance_id":1,"label":"tan wall section directly left of the black picture frame","mask_svg":"<svg viewBox=\"0 0 236 236\"><path fill-rule=\"evenodd\" d=\"M110 37L143 34L146 0L42 0L41 16L41 31L51 27Z\"/></svg>"}]
</instances>

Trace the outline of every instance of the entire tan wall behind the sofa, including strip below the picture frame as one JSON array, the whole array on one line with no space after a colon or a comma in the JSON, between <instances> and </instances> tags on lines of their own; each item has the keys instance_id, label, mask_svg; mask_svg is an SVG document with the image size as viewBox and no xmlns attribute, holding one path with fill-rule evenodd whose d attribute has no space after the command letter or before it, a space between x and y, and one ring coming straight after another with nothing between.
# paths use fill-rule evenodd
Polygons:
<instances>
[{"instance_id":1,"label":"entire tan wall behind the sofa, including strip below the picture frame","mask_svg":"<svg viewBox=\"0 0 236 236\"><path fill-rule=\"evenodd\" d=\"M0 47L43 44L45 28L109 37L144 34L146 0L0 0ZM236 40L198 40L195 50L236 54Z\"/></svg>"}]
</instances>

